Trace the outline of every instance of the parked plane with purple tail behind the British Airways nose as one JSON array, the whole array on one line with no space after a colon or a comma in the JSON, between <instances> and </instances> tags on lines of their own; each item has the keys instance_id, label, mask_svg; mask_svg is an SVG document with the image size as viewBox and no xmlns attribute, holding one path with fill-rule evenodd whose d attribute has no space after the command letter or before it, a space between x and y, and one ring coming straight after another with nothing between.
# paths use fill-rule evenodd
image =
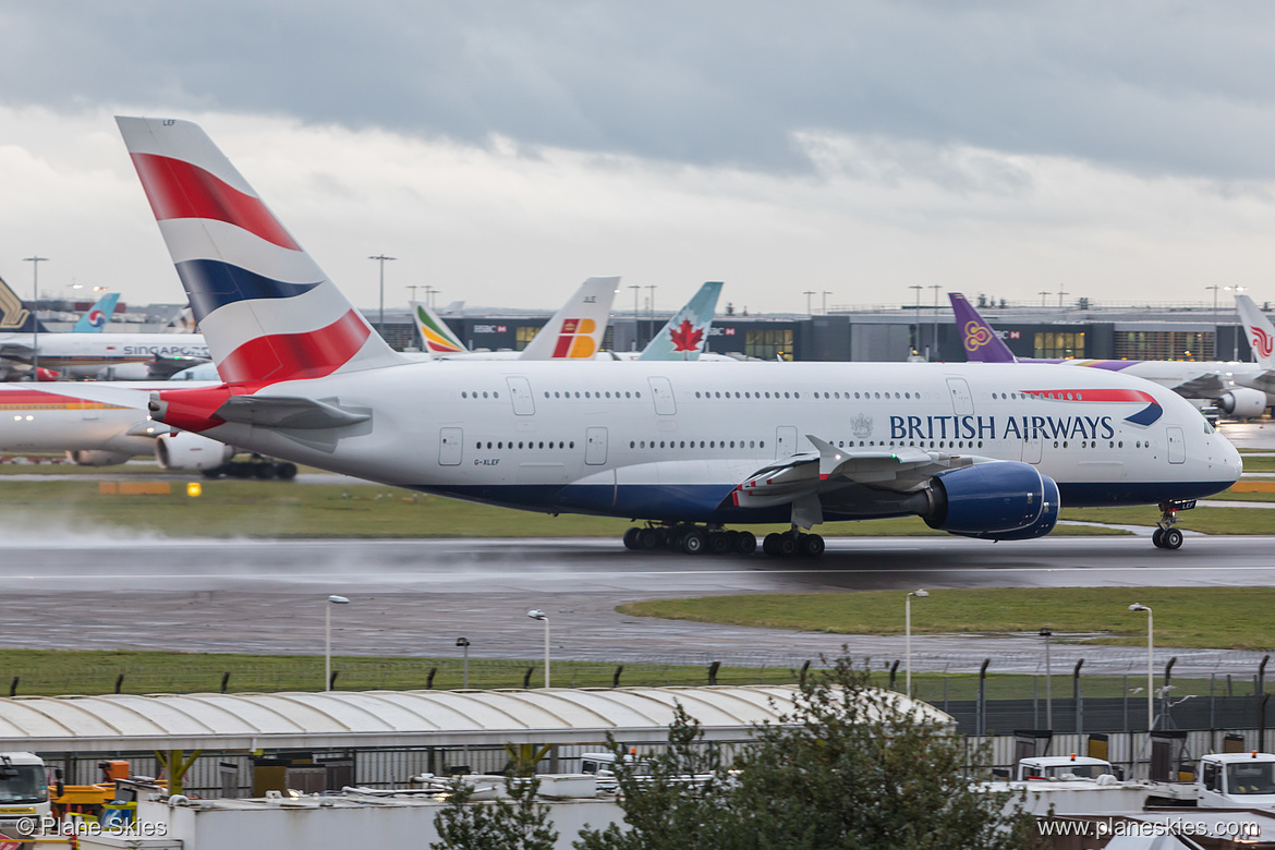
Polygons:
<instances>
[{"instance_id":1,"label":"parked plane with purple tail behind the British Airways nose","mask_svg":"<svg viewBox=\"0 0 1275 850\"><path fill-rule=\"evenodd\" d=\"M959 292L949 292L965 357L972 363L1058 363L1109 372L1125 372L1165 386L1184 399L1218 405L1227 415L1247 419L1258 417L1269 401L1265 393L1244 389L1266 368L1252 363L1221 361L1090 361L1035 359L1016 357L992 326ZM1241 296L1242 297L1242 296Z\"/></svg>"}]
</instances>

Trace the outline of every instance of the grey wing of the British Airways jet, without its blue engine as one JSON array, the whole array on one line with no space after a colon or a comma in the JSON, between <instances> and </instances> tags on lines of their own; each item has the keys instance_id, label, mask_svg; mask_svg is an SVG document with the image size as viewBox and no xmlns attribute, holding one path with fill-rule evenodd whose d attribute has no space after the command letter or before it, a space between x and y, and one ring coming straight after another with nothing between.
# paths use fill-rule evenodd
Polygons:
<instances>
[{"instance_id":1,"label":"grey wing of the British Airways jet, without its blue engine","mask_svg":"<svg viewBox=\"0 0 1275 850\"><path fill-rule=\"evenodd\" d=\"M969 466L974 457L915 447L839 449L806 435L816 451L802 452L764 466L731 494L740 507L793 506L793 522L808 528L822 522L822 505L853 486L887 491L891 498L924 489L936 473Z\"/></svg>"}]
</instances>

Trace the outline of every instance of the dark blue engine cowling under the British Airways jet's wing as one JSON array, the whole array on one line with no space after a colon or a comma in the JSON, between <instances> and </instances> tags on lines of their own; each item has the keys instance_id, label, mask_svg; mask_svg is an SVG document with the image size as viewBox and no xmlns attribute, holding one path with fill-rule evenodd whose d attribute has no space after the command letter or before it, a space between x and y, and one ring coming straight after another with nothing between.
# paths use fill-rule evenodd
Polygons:
<instances>
[{"instance_id":1,"label":"dark blue engine cowling under the British Airways jet's wing","mask_svg":"<svg viewBox=\"0 0 1275 850\"><path fill-rule=\"evenodd\" d=\"M929 479L932 529L984 540L1044 537L1058 522L1058 486L1031 464L975 464Z\"/></svg>"}]
</instances>

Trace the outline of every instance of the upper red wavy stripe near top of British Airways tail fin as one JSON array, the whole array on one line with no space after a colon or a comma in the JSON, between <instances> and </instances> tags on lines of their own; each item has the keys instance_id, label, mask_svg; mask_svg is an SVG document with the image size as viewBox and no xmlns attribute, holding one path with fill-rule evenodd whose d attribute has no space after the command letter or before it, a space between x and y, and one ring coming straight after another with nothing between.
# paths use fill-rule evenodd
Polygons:
<instances>
[{"instance_id":1,"label":"upper red wavy stripe near top of British Airways tail fin","mask_svg":"<svg viewBox=\"0 0 1275 850\"><path fill-rule=\"evenodd\" d=\"M300 251L292 236L265 204L246 195L199 166L150 153L133 154L156 220L210 218L235 224L279 247Z\"/></svg>"}]
</instances>

